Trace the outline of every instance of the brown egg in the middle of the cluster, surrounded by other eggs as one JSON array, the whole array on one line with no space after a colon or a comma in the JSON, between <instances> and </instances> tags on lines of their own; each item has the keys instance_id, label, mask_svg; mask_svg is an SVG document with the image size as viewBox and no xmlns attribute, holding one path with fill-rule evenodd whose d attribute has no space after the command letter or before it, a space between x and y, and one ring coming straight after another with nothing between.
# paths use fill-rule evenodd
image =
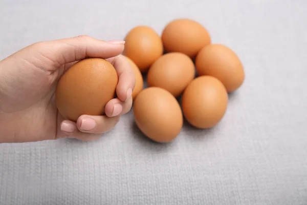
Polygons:
<instances>
[{"instance_id":1,"label":"brown egg in the middle of the cluster, surrounded by other eggs","mask_svg":"<svg viewBox=\"0 0 307 205\"><path fill-rule=\"evenodd\" d=\"M181 95L195 76L193 61L183 53L167 53L153 63L147 74L149 87L160 87L175 97Z\"/></svg>"}]
</instances>

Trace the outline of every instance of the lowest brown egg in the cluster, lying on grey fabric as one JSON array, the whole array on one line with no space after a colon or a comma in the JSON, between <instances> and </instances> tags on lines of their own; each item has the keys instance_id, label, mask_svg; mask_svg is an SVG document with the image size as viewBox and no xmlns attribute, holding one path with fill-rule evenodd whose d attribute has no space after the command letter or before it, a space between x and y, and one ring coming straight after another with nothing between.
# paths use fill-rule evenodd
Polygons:
<instances>
[{"instance_id":1,"label":"lowest brown egg in the cluster, lying on grey fabric","mask_svg":"<svg viewBox=\"0 0 307 205\"><path fill-rule=\"evenodd\" d=\"M150 87L142 90L134 103L139 129L156 142L170 142L180 133L183 115L176 98L168 91Z\"/></svg>"}]
</instances>

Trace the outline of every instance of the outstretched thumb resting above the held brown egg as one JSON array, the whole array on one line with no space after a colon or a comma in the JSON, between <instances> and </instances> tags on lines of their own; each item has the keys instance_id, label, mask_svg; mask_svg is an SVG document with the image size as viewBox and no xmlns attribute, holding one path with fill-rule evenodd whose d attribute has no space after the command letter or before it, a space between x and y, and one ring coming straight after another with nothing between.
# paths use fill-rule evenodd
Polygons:
<instances>
[{"instance_id":1,"label":"outstretched thumb resting above the held brown egg","mask_svg":"<svg viewBox=\"0 0 307 205\"><path fill-rule=\"evenodd\" d=\"M105 42L87 35L62 38L32 45L41 56L50 59L54 69L86 57L110 58L121 54L124 40Z\"/></svg>"}]
</instances>

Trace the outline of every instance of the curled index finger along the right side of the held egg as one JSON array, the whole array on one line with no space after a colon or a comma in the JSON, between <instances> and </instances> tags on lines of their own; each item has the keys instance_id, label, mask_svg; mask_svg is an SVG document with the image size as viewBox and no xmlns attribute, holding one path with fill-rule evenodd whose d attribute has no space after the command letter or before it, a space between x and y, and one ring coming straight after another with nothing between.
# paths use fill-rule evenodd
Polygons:
<instances>
[{"instance_id":1,"label":"curled index finger along the right side of the held egg","mask_svg":"<svg viewBox=\"0 0 307 205\"><path fill-rule=\"evenodd\" d=\"M136 86L136 76L125 56L118 55L107 59L115 68L118 75L116 94L122 101L128 100Z\"/></svg>"}]
</instances>

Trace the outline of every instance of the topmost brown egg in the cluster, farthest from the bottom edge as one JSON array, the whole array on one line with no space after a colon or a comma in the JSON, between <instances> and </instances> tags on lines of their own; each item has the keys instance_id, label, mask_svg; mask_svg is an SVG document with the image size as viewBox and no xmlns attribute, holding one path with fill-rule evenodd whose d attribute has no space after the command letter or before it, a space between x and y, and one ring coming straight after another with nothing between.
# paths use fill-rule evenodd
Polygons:
<instances>
[{"instance_id":1,"label":"topmost brown egg in the cluster, farthest from the bottom edge","mask_svg":"<svg viewBox=\"0 0 307 205\"><path fill-rule=\"evenodd\" d=\"M166 52L181 52L194 58L211 43L208 31L191 19L172 20L162 32L162 42Z\"/></svg>"}]
</instances>

